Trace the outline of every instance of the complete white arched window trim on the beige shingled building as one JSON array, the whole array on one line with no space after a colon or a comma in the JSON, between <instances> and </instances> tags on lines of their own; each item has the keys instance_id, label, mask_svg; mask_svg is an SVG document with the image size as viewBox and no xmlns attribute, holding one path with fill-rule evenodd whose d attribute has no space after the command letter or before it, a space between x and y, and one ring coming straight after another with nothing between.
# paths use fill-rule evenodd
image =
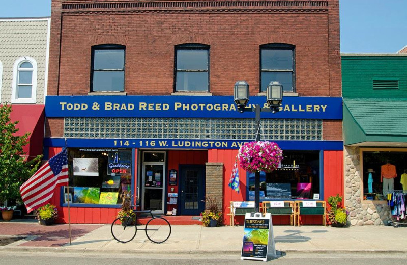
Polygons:
<instances>
[{"instance_id":1,"label":"complete white arched window trim on the beige shingled building","mask_svg":"<svg viewBox=\"0 0 407 265\"><path fill-rule=\"evenodd\" d=\"M18 66L22 62L30 62L33 65L33 83L32 83L32 91L31 91L31 98L17 98L17 72ZM13 66L13 83L12 83L12 91L11 91L11 103L13 104L35 104L36 97L37 97L37 61L31 57L21 57L18 58L14 62Z\"/></svg>"}]
</instances>

